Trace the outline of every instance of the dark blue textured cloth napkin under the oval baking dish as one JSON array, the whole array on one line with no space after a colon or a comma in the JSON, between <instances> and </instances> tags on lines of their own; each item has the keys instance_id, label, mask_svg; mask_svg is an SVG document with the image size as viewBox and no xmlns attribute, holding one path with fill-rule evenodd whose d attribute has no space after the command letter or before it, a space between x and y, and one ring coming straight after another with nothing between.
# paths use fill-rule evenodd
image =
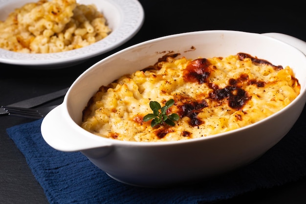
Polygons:
<instances>
[{"instance_id":1,"label":"dark blue textured cloth napkin under the oval baking dish","mask_svg":"<svg viewBox=\"0 0 306 204\"><path fill-rule=\"evenodd\" d=\"M141 188L111 179L81 153L60 152L46 144L41 122L14 126L7 133L50 204L203 204L306 176L306 110L291 131L253 163L209 181L169 188Z\"/></svg>"}]
</instances>

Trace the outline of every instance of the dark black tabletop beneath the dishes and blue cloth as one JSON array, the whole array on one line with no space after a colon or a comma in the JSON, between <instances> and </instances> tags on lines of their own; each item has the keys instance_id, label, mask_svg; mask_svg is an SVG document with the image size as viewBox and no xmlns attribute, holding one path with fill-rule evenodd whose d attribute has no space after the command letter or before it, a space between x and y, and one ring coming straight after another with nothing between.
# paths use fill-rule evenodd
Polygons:
<instances>
[{"instance_id":1,"label":"dark black tabletop beneath the dishes and blue cloth","mask_svg":"<svg viewBox=\"0 0 306 204\"><path fill-rule=\"evenodd\" d=\"M127 43L101 56L63 69L39 70L0 63L0 105L66 88L87 68L106 56L156 37L198 30L279 32L306 41L306 12L302 5L245 4L244 1L140 0L145 21ZM253 3L253 4L252 4ZM59 104L62 99L49 104ZM5 129L33 121L0 117L0 204L46 204L44 191L35 180L22 153ZM305 204L306 178L272 189L260 189L218 204Z\"/></svg>"}]
</instances>

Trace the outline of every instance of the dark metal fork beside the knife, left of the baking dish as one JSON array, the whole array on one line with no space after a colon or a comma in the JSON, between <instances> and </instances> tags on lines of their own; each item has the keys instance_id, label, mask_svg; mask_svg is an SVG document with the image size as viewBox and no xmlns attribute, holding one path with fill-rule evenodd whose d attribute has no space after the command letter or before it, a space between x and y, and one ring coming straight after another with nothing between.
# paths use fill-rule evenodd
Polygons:
<instances>
[{"instance_id":1,"label":"dark metal fork beside the knife, left of the baking dish","mask_svg":"<svg viewBox=\"0 0 306 204\"><path fill-rule=\"evenodd\" d=\"M19 108L14 106L2 106L2 108L7 111L9 115L40 119L57 106L58 105L40 108Z\"/></svg>"}]
</instances>

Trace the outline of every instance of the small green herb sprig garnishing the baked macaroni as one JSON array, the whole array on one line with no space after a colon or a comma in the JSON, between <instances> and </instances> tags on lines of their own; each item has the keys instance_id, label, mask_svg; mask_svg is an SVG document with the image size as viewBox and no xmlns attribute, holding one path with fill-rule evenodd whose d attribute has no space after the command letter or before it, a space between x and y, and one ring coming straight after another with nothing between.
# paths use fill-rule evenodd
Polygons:
<instances>
[{"instance_id":1,"label":"small green herb sprig garnishing the baked macaroni","mask_svg":"<svg viewBox=\"0 0 306 204\"><path fill-rule=\"evenodd\" d=\"M151 122L151 127L154 127L158 124L163 124L164 122L168 125L175 126L174 121L179 119L178 114L172 113L171 115L167 115L166 111L174 104L174 100L170 99L166 102L164 107L161 107L157 101L150 101L150 108L153 110L153 113L149 113L143 117L143 121ZM160 111L159 111L160 110Z\"/></svg>"}]
</instances>

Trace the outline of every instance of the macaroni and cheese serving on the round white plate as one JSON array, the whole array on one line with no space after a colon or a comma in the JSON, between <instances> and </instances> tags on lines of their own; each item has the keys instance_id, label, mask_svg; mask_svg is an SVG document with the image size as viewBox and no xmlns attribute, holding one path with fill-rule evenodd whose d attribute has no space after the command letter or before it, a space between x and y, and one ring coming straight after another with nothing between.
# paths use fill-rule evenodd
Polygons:
<instances>
[{"instance_id":1,"label":"macaroni and cheese serving on the round white plate","mask_svg":"<svg viewBox=\"0 0 306 204\"><path fill-rule=\"evenodd\" d=\"M15 9L0 21L0 48L23 53L77 49L111 32L94 5L76 0L39 0Z\"/></svg>"}]
</instances>

